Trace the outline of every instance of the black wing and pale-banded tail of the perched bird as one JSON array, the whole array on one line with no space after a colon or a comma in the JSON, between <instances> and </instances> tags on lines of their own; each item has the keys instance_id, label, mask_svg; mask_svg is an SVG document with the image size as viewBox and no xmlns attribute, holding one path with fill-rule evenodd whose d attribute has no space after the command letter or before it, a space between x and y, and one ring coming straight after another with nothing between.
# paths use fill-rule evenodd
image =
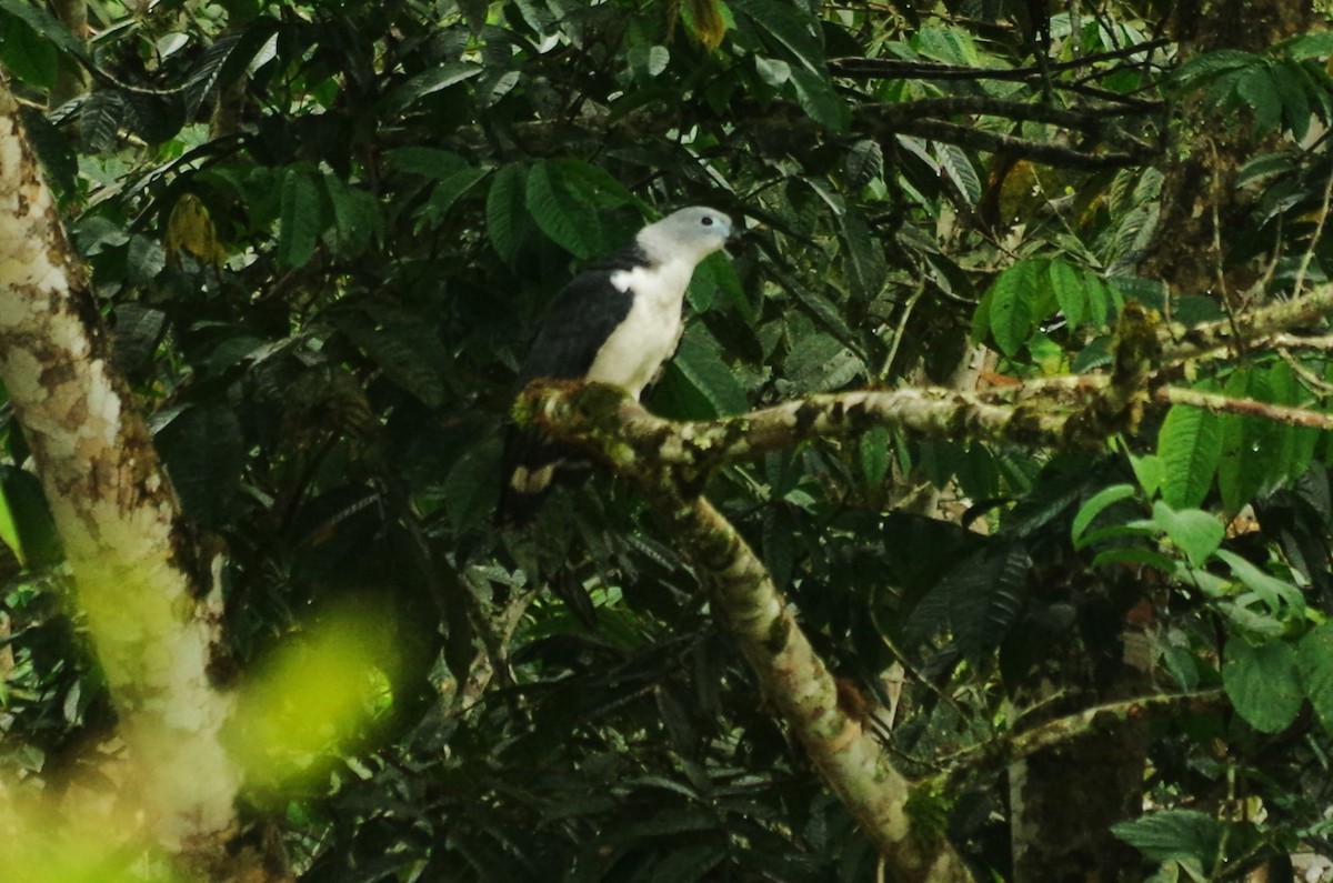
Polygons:
<instances>
[{"instance_id":1,"label":"black wing and pale-banded tail of the perched bird","mask_svg":"<svg viewBox=\"0 0 1333 883\"><path fill-rule=\"evenodd\" d=\"M633 293L619 291L611 276L637 265L633 261L639 256L636 249L627 249L575 276L556 295L519 372L519 389L539 377L576 380L588 373L633 301ZM501 464L504 487L496 511L500 524L531 520L553 482L587 471L587 463L580 464L569 448L517 427L509 427Z\"/></svg>"}]
</instances>

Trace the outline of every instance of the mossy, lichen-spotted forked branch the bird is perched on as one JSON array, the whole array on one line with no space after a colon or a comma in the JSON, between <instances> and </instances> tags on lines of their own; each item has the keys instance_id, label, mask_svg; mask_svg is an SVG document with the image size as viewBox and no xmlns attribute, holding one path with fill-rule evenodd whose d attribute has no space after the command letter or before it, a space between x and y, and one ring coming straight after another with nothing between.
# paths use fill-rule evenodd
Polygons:
<instances>
[{"instance_id":1,"label":"mossy, lichen-spotted forked branch the bird is perched on","mask_svg":"<svg viewBox=\"0 0 1333 883\"><path fill-rule=\"evenodd\" d=\"M708 476L728 462L814 437L854 437L872 427L1032 447L1101 444L1112 435L1132 432L1154 399L1181 400L1176 389L1164 385L1164 361L1173 364L1237 340L1261 339L1329 309L1333 287L1300 307L1278 304L1257 311L1260 320L1240 332L1221 324L1192 329L1184 335L1188 343L1181 344L1178 329L1164 327L1156 315L1130 303L1121 313L1109 372L1042 379L996 395L929 388L861 391L810 396L714 421L669 421L615 387L535 383L520 395L515 416L589 451L636 482L669 518L678 547L697 570L724 627L896 878L968 879L938 827L925 820L932 814L913 808L922 806L922 795L925 804L932 803L941 783L910 786L860 719L840 707L833 678L772 576L702 496ZM1185 403L1224 407L1213 400ZM1041 728L1040 735L1021 736L1004 754L1021 756L1045 747L1049 739L1073 738L1080 727L1086 730L1089 722L1100 719L1088 714L1086 720L1076 715L1068 726L1057 723ZM988 750L986 756L990 754Z\"/></svg>"}]
</instances>

